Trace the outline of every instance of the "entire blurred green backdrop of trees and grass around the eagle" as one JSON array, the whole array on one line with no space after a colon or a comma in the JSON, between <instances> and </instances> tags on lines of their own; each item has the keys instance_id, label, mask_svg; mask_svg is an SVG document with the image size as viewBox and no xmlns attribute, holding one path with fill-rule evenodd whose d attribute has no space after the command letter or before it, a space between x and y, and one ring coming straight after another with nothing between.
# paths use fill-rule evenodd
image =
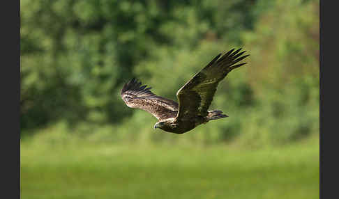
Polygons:
<instances>
[{"instance_id":1,"label":"entire blurred green backdrop of trees and grass around the eagle","mask_svg":"<svg viewBox=\"0 0 339 199\"><path fill-rule=\"evenodd\" d=\"M319 0L22 0L22 198L319 198ZM181 135L123 83L176 91L219 53L248 64Z\"/></svg>"}]
</instances>

